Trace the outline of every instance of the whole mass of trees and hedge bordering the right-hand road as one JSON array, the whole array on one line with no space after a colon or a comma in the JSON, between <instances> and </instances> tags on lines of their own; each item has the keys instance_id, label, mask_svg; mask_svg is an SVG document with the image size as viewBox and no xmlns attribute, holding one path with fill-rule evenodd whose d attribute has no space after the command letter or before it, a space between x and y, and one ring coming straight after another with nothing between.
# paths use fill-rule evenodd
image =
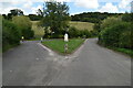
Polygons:
<instances>
[{"instance_id":1,"label":"whole mass of trees and hedge bordering the right-hand road","mask_svg":"<svg viewBox=\"0 0 133 88\"><path fill-rule=\"evenodd\" d=\"M133 50L133 13L110 16L95 24L99 43L108 47Z\"/></svg>"}]
</instances>

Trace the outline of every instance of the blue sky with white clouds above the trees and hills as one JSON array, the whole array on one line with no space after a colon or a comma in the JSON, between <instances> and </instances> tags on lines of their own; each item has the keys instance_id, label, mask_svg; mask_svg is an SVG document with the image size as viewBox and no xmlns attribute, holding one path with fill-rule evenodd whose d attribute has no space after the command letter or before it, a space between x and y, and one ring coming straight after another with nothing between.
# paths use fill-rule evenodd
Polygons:
<instances>
[{"instance_id":1,"label":"blue sky with white clouds above the trees and hills","mask_svg":"<svg viewBox=\"0 0 133 88\"><path fill-rule=\"evenodd\" d=\"M35 14L38 9L42 9L44 1L50 0L0 0L0 13L7 14L12 9L21 9L24 14ZM133 0L57 0L66 2L70 14L82 12L131 12L130 2Z\"/></svg>"}]
</instances>

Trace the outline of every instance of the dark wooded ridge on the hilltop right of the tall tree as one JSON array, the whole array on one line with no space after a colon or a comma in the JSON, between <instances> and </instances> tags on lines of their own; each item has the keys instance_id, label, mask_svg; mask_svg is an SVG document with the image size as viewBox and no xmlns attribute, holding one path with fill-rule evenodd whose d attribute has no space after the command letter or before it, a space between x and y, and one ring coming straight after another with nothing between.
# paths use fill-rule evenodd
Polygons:
<instances>
[{"instance_id":1,"label":"dark wooded ridge on the hilltop right of the tall tree","mask_svg":"<svg viewBox=\"0 0 133 88\"><path fill-rule=\"evenodd\" d=\"M122 13L100 13L100 12L84 12L75 15L71 15L72 21L99 23L108 16L121 15Z\"/></svg>"}]
</instances>

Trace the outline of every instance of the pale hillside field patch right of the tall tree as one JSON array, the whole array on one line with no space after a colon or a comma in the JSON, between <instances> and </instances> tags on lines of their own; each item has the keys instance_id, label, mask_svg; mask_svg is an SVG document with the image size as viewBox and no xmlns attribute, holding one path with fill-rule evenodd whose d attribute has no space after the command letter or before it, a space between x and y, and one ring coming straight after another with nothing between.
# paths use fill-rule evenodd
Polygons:
<instances>
[{"instance_id":1,"label":"pale hillside field patch right of the tall tree","mask_svg":"<svg viewBox=\"0 0 133 88\"><path fill-rule=\"evenodd\" d=\"M92 31L93 30L93 23L89 23L89 22L76 22L76 21L71 21L70 22L70 26L74 26L78 30L89 30Z\"/></svg>"}]
</instances>

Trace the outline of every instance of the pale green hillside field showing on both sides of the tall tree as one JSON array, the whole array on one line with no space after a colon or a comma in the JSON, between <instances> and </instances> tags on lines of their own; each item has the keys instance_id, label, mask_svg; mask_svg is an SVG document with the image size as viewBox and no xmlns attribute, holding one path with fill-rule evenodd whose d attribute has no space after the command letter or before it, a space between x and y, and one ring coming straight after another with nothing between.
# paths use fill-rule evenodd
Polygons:
<instances>
[{"instance_id":1,"label":"pale green hillside field showing on both sides of the tall tree","mask_svg":"<svg viewBox=\"0 0 133 88\"><path fill-rule=\"evenodd\" d=\"M34 31L35 38L42 37L44 35L44 30L43 28L38 26L39 21L31 21L31 22L32 22L32 30ZM92 31L93 25L94 25L93 23L89 23L89 22L75 22L75 21L70 22L70 26L75 26L78 30Z\"/></svg>"}]
</instances>

